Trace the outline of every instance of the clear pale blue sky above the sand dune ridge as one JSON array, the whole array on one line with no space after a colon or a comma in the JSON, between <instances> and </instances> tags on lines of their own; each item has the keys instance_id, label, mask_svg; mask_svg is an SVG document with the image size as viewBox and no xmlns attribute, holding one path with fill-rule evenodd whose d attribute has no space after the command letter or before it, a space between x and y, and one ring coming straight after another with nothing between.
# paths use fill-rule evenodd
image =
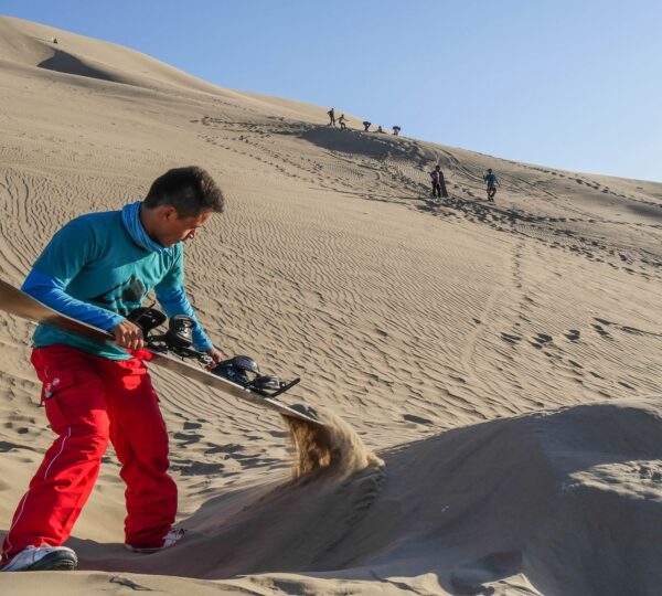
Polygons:
<instances>
[{"instance_id":1,"label":"clear pale blue sky above the sand dune ridge","mask_svg":"<svg viewBox=\"0 0 662 596\"><path fill-rule=\"evenodd\" d=\"M0 0L222 87L662 181L662 0Z\"/></svg>"}]
</instances>

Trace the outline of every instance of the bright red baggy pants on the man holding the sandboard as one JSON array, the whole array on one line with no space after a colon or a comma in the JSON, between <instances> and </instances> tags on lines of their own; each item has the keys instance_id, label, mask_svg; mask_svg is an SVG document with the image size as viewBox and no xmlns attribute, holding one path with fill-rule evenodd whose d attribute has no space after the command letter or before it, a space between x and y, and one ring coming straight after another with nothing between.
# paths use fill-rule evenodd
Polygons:
<instances>
[{"instance_id":1,"label":"bright red baggy pants on the man holding the sandboard","mask_svg":"<svg viewBox=\"0 0 662 596\"><path fill-rule=\"evenodd\" d=\"M94 488L108 439L127 486L126 542L161 546L174 522L177 487L168 476L168 434L143 362L107 360L60 344L35 349L32 364L58 436L19 503L2 560L29 545L66 541Z\"/></svg>"}]
</instances>

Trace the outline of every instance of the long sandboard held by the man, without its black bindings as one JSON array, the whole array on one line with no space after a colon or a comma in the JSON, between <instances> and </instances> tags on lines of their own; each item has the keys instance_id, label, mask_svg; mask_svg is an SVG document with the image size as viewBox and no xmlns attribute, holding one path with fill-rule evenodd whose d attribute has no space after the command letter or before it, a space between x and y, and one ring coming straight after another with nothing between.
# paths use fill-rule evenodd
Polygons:
<instances>
[{"instance_id":1,"label":"long sandboard held by the man, without its black bindings","mask_svg":"<svg viewBox=\"0 0 662 596\"><path fill-rule=\"evenodd\" d=\"M15 317L26 319L33 323L47 324L67 333L73 333L85 339L98 341L102 344L114 342L114 337L107 331L62 315L1 279L0 309ZM252 402L260 407L274 409L282 416L297 418L321 426L321 423L311 415L308 415L303 412L298 412L297 409L293 409L292 407L277 400L265 397L259 393L242 387L241 385L237 385L232 381L221 376L216 376L215 374L212 374L200 366L189 364L188 362L184 362L183 360L180 360L173 355L160 353L150 350L149 348L147 351L152 354L152 359L147 361L148 366L153 365L161 369L168 369L169 371L183 374L184 376L197 381L206 386L217 389L225 394L232 395L233 397ZM303 407L302 409L306 408Z\"/></svg>"}]
</instances>

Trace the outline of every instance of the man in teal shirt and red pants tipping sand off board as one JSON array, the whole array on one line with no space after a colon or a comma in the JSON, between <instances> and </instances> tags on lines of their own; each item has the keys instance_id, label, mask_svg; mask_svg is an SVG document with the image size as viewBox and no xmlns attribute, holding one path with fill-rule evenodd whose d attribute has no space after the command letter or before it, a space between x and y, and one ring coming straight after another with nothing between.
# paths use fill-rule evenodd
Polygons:
<instances>
[{"instance_id":1,"label":"man in teal shirt and red pants tipping sand off board","mask_svg":"<svg viewBox=\"0 0 662 596\"><path fill-rule=\"evenodd\" d=\"M174 545L177 486L168 473L168 433L141 352L141 329L126 317L150 290L169 317L189 316L193 343L222 354L204 333L183 286L183 243L195 237L224 198L202 168L169 170L143 201L89 213L62 227L22 289L47 307L115 336L99 345L40 324L32 364L57 438L30 482L2 545L1 571L73 570L63 546L113 443L126 482L125 543L136 552Z\"/></svg>"}]
</instances>

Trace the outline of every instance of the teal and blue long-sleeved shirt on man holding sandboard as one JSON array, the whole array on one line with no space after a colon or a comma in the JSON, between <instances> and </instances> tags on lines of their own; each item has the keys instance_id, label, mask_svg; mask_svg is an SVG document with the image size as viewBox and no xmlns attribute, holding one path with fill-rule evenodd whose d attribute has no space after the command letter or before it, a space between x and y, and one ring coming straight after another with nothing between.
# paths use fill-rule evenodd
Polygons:
<instances>
[{"instance_id":1,"label":"teal and blue long-sleeved shirt on man holding sandboard","mask_svg":"<svg viewBox=\"0 0 662 596\"><path fill-rule=\"evenodd\" d=\"M53 236L36 259L22 290L63 315L105 331L119 324L154 290L168 315L195 320L193 343L209 350L205 336L184 290L184 249L180 242L164 247L150 238L140 222L140 202L121 211L76 217ZM110 360L131 355L118 345L99 345L40 324L35 348L65 343Z\"/></svg>"}]
</instances>

